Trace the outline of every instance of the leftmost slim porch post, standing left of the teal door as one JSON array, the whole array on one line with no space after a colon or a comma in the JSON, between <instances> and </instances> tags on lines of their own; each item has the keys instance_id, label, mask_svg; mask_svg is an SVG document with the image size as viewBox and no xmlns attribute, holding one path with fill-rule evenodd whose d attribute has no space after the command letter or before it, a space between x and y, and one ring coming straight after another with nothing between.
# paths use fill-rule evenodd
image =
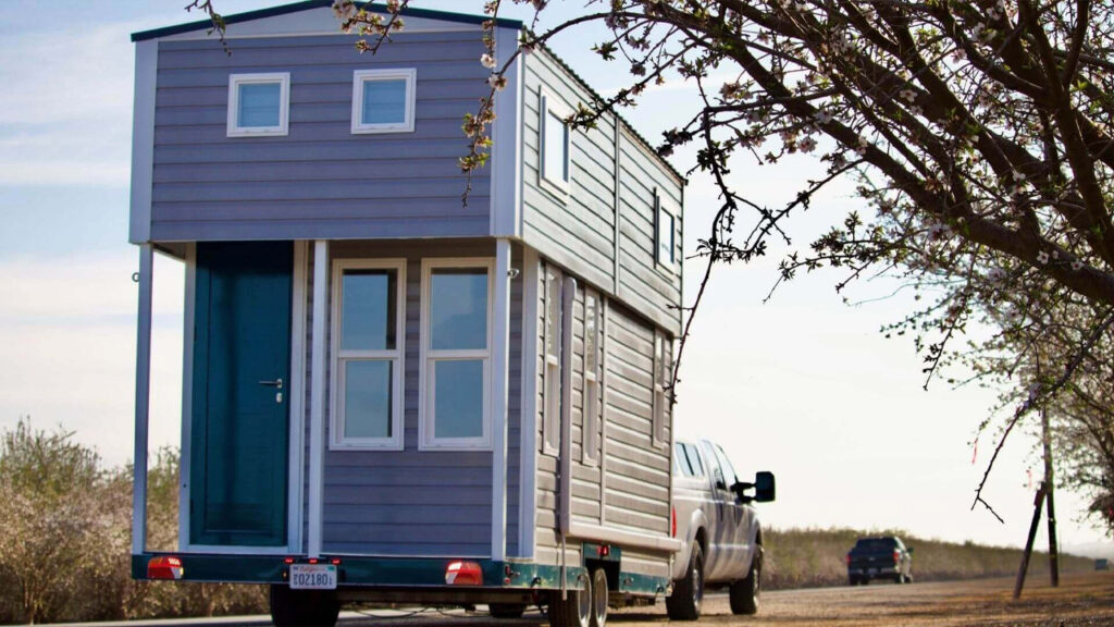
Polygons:
<instances>
[{"instance_id":1,"label":"leftmost slim porch post, standing left of the teal door","mask_svg":"<svg viewBox=\"0 0 1114 627\"><path fill-rule=\"evenodd\" d=\"M150 314L155 251L139 247L139 311L136 332L136 438L131 482L131 554L147 549L147 444L150 418Z\"/></svg>"}]
</instances>

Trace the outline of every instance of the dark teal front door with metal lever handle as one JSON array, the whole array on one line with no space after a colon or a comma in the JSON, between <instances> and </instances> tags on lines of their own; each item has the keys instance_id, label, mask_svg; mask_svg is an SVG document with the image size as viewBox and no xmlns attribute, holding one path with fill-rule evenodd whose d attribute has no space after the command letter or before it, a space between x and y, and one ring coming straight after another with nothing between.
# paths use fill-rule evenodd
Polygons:
<instances>
[{"instance_id":1,"label":"dark teal front door with metal lever handle","mask_svg":"<svg viewBox=\"0 0 1114 627\"><path fill-rule=\"evenodd\" d=\"M286 544L291 242L198 243L189 542Z\"/></svg>"}]
</instances>

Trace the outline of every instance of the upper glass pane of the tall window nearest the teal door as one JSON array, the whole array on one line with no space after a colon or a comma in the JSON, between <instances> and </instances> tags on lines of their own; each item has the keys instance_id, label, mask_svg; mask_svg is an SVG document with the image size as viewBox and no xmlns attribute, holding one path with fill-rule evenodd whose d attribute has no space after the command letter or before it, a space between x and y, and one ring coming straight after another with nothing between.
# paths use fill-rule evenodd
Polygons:
<instances>
[{"instance_id":1,"label":"upper glass pane of the tall window nearest the teal door","mask_svg":"<svg viewBox=\"0 0 1114 627\"><path fill-rule=\"evenodd\" d=\"M341 305L342 350L394 350L398 310L394 270L345 270Z\"/></svg>"}]
</instances>

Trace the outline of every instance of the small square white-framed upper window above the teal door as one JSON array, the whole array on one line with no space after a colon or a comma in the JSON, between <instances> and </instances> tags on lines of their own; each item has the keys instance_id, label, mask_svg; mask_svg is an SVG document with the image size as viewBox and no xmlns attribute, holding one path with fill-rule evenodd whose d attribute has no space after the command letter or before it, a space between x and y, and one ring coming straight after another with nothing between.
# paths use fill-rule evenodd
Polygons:
<instances>
[{"instance_id":1,"label":"small square white-framed upper window above the teal door","mask_svg":"<svg viewBox=\"0 0 1114 627\"><path fill-rule=\"evenodd\" d=\"M286 135L290 74L233 74L228 77L228 137Z\"/></svg>"}]
</instances>

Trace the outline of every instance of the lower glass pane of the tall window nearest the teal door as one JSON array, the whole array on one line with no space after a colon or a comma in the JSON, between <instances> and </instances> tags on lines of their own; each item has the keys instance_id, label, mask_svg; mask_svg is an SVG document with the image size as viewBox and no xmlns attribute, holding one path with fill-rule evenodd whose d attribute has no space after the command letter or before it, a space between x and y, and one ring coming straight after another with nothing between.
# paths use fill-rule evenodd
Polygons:
<instances>
[{"instance_id":1,"label":"lower glass pane of the tall window nearest the teal door","mask_svg":"<svg viewBox=\"0 0 1114 627\"><path fill-rule=\"evenodd\" d=\"M391 361L344 363L344 437L391 437Z\"/></svg>"}]
</instances>

